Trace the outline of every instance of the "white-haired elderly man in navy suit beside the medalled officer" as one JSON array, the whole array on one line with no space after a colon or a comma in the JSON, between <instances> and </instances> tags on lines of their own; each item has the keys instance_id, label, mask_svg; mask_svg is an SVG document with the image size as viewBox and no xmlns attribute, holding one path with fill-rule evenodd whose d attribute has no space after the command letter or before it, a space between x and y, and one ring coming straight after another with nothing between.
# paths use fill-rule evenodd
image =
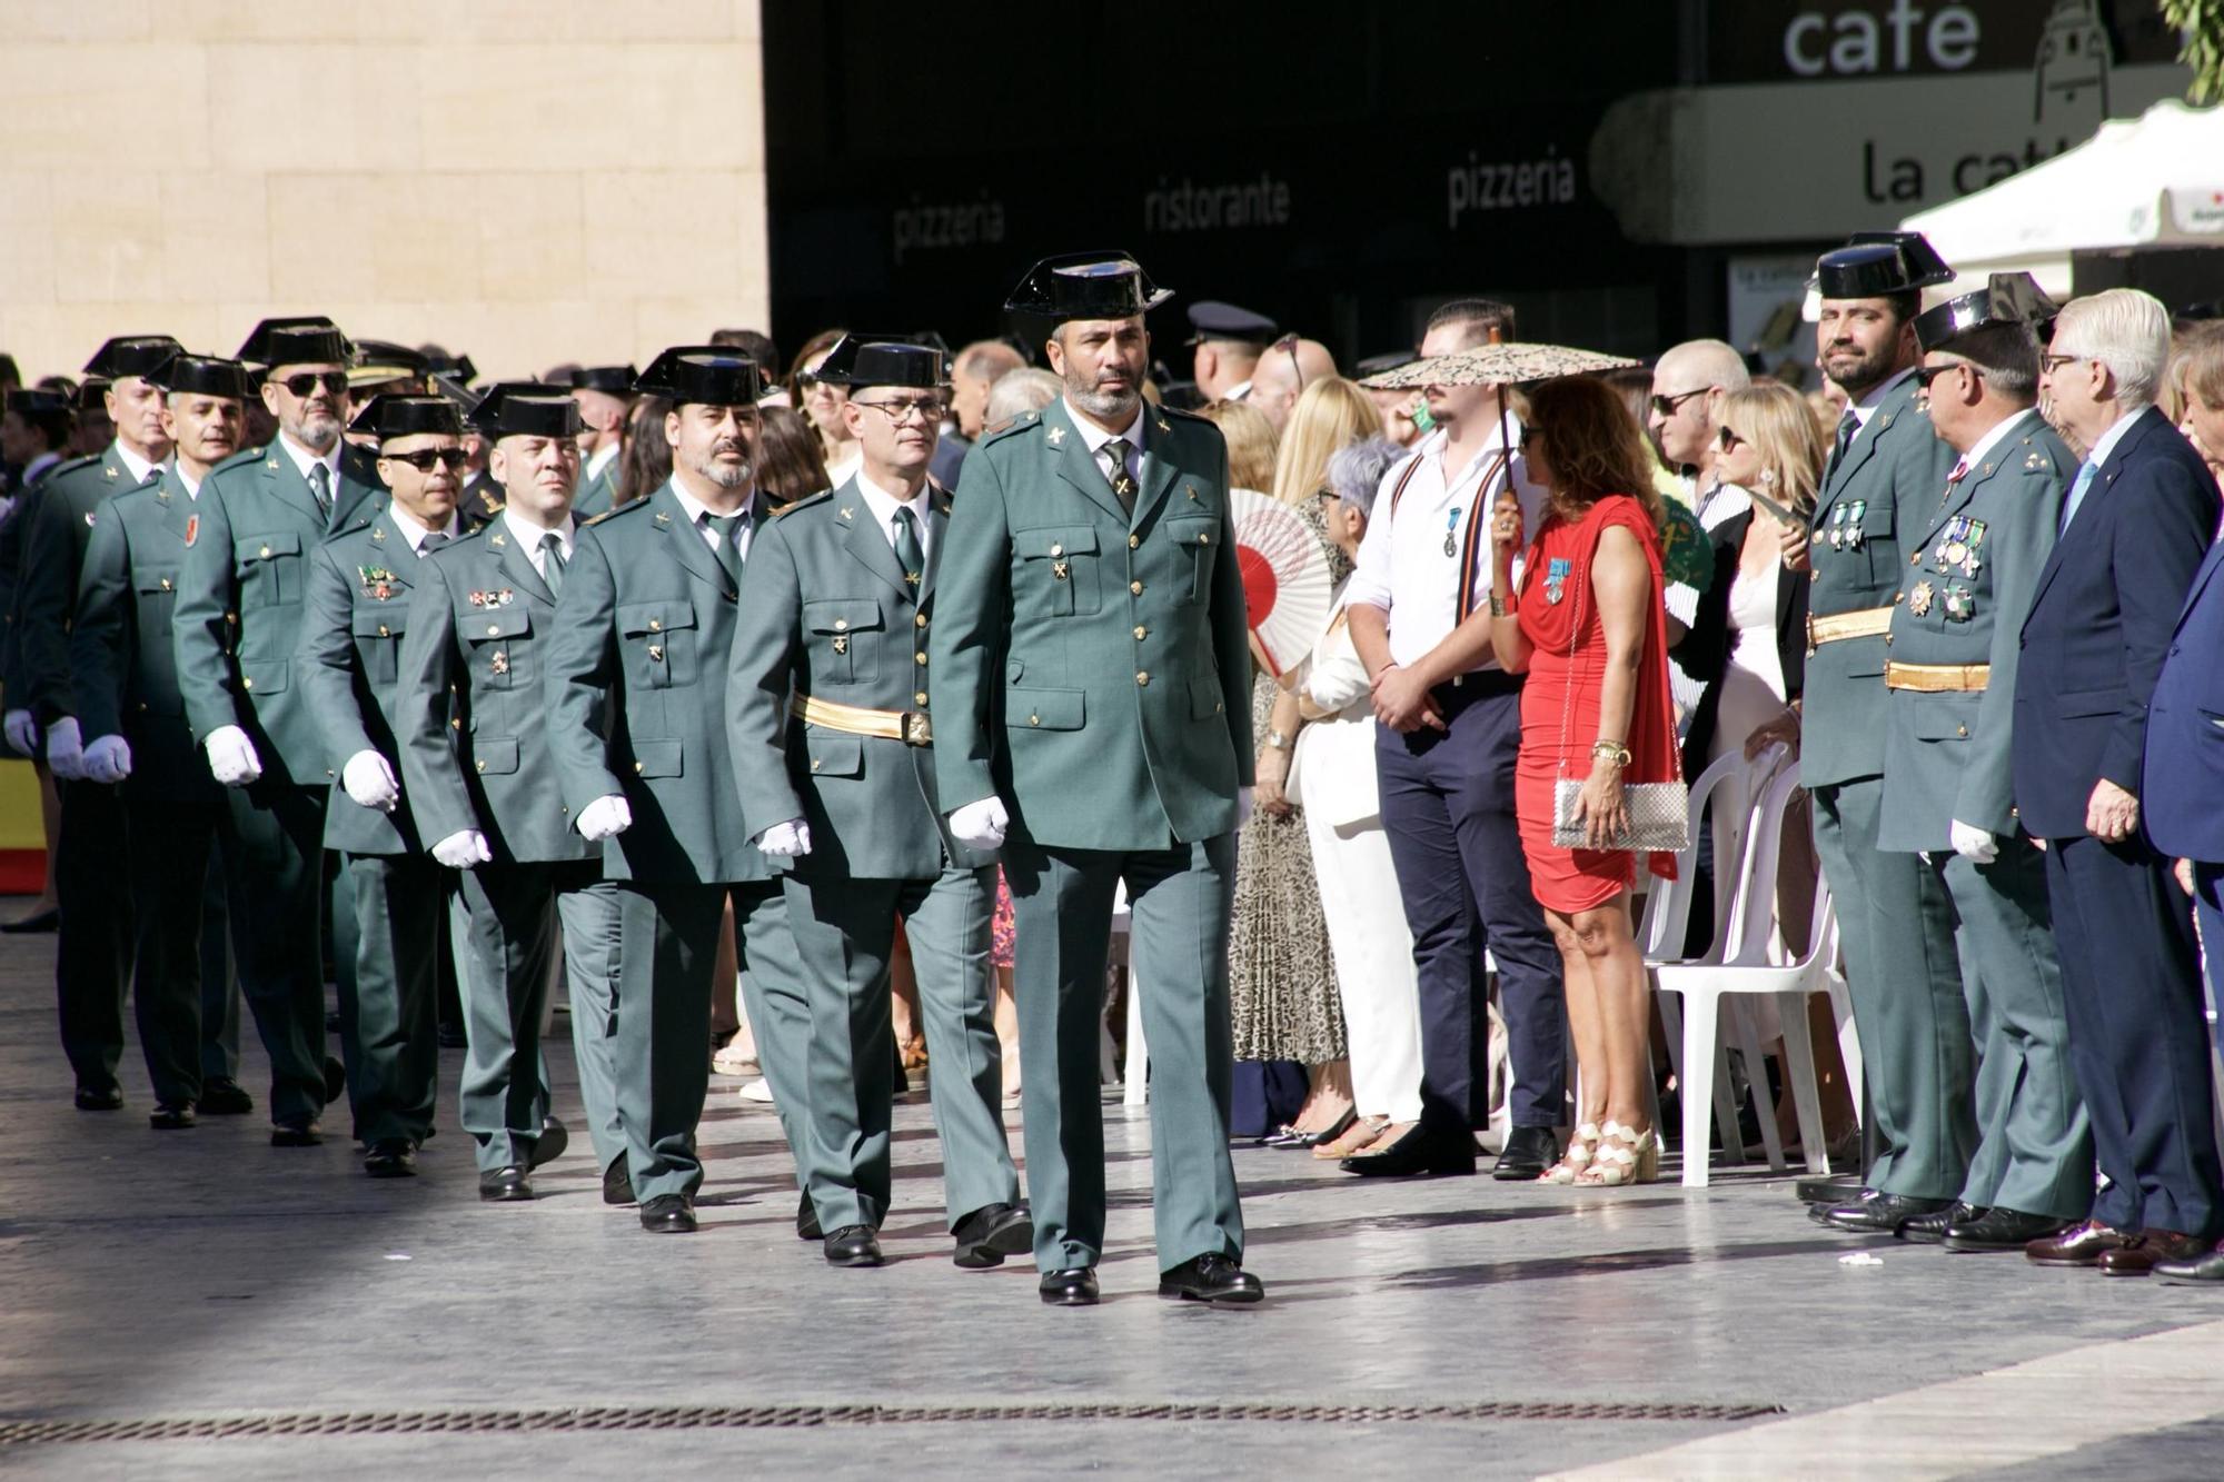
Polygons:
<instances>
[{"instance_id":1,"label":"white-haired elderly man in navy suit beside the medalled officer","mask_svg":"<svg viewBox=\"0 0 2224 1482\"><path fill-rule=\"evenodd\" d=\"M2217 485L2162 412L2171 318L2137 289L2071 303L2042 358L2086 461L2062 501L2015 676L2015 799L2046 841L2071 1066L2108 1186L2042 1266L2146 1275L2220 1228L2193 903L2142 828L2148 701L2217 527ZM2215 946L2215 943L2211 943Z\"/></svg>"}]
</instances>

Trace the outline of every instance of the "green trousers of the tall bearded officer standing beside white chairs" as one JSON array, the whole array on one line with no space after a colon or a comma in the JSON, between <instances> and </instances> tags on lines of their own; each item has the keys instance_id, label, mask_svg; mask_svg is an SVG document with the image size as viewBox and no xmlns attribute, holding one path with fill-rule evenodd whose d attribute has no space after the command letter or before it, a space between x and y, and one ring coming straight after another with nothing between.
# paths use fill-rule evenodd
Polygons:
<instances>
[{"instance_id":1,"label":"green trousers of the tall bearded officer standing beside white chairs","mask_svg":"<svg viewBox=\"0 0 2224 1482\"><path fill-rule=\"evenodd\" d=\"M1877 1124L1868 1186L1959 1197L1977 1150L1973 1041L1946 886L1877 848L1884 779L1815 790L1815 850L1837 903L1861 1077Z\"/></svg>"}]
</instances>

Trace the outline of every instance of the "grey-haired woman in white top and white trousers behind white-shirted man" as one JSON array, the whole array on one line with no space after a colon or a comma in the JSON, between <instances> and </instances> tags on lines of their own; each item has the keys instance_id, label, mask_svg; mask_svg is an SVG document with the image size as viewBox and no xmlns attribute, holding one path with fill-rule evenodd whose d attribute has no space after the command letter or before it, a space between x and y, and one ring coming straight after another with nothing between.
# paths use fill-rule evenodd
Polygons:
<instances>
[{"instance_id":1,"label":"grey-haired woman in white top and white trousers behind white-shirted man","mask_svg":"<svg viewBox=\"0 0 2224 1482\"><path fill-rule=\"evenodd\" d=\"M1374 490L1399 456L1388 438L1368 438L1328 461L1321 507L1328 539L1346 554L1359 554ZM1368 670L1352 650L1341 587L1297 676L1297 692L1305 725L1297 734L1288 792L1305 810L1359 1113L1348 1133L1312 1155L1350 1157L1386 1137L1394 1142L1421 1119L1421 997L1374 792Z\"/></svg>"}]
</instances>

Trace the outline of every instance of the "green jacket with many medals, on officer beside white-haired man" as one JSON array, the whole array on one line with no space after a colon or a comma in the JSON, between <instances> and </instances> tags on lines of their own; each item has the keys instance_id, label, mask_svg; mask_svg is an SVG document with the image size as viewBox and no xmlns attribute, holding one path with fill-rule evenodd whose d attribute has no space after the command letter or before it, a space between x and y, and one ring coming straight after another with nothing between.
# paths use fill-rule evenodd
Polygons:
<instances>
[{"instance_id":1,"label":"green jacket with many medals, on officer beside white-haired man","mask_svg":"<svg viewBox=\"0 0 2224 1482\"><path fill-rule=\"evenodd\" d=\"M1884 741L1890 786L1877 848L1948 850L1955 819L2002 839L2015 834L2008 765L2015 663L2075 472L2077 456L2026 412L1986 449L1984 463L1946 490L1937 510L1902 505L1899 527L1917 561L1902 565L1899 607L1886 639L1893 661L1988 663L1993 672L1984 690L1890 692Z\"/></svg>"}]
</instances>

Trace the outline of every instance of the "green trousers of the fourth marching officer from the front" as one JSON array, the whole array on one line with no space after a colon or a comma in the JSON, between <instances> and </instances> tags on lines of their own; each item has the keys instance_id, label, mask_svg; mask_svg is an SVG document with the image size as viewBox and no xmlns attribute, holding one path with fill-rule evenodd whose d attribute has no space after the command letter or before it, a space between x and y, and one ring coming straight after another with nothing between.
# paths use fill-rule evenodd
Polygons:
<instances>
[{"instance_id":1,"label":"green trousers of the fourth marching officer from the front","mask_svg":"<svg viewBox=\"0 0 2224 1482\"><path fill-rule=\"evenodd\" d=\"M596 859L485 863L456 883L463 939L463 1130L478 1170L527 1166L547 1119L540 1021L563 941L572 1050L598 1168L625 1150L609 1053L618 892ZM434 999L427 995L427 1015Z\"/></svg>"}]
</instances>

